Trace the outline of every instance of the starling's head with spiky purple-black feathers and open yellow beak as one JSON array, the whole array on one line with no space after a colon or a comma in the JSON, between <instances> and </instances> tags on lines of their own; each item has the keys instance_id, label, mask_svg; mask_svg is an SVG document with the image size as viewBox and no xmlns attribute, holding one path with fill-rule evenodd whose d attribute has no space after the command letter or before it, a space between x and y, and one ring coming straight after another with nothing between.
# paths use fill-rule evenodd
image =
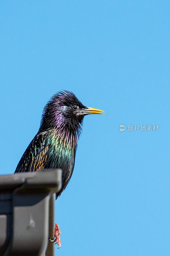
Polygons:
<instances>
[{"instance_id":1,"label":"starling's head with spiky purple-black feathers and open yellow beak","mask_svg":"<svg viewBox=\"0 0 170 256\"><path fill-rule=\"evenodd\" d=\"M89 114L104 114L103 110L84 106L73 92L60 91L47 102L39 131L57 129L69 130L78 136L81 133L83 118Z\"/></svg>"}]
</instances>

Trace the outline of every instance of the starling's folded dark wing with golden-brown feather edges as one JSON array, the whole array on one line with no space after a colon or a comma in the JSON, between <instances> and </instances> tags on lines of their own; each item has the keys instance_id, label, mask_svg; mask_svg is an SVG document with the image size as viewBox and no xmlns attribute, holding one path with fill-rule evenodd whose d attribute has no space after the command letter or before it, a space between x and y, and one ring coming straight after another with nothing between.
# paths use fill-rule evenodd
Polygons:
<instances>
[{"instance_id":1,"label":"starling's folded dark wing with golden-brown feather edges","mask_svg":"<svg viewBox=\"0 0 170 256\"><path fill-rule=\"evenodd\" d=\"M34 172L44 169L48 158L48 131L37 133L25 150L15 172Z\"/></svg>"}]
</instances>

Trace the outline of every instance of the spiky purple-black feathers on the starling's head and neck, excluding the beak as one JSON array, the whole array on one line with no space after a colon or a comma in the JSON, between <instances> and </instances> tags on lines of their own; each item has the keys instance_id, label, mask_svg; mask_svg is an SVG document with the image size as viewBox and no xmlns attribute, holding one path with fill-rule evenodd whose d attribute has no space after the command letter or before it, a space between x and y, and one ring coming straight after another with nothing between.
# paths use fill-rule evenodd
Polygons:
<instances>
[{"instance_id":1,"label":"spiky purple-black feathers on the starling's head and neck, excluding the beak","mask_svg":"<svg viewBox=\"0 0 170 256\"><path fill-rule=\"evenodd\" d=\"M81 135L83 115L77 115L75 107L85 107L72 92L63 91L52 96L47 102L39 132L54 130L57 136L76 143Z\"/></svg>"}]
</instances>

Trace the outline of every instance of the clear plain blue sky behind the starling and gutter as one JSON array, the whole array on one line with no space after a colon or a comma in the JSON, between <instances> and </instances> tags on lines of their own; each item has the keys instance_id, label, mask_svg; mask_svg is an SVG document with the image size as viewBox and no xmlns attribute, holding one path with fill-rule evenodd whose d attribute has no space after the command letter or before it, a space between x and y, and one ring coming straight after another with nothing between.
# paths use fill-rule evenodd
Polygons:
<instances>
[{"instance_id":1,"label":"clear plain blue sky behind the starling and gutter","mask_svg":"<svg viewBox=\"0 0 170 256\"><path fill-rule=\"evenodd\" d=\"M56 201L56 255L169 255L169 1L4 1L0 12L0 174L15 171L53 93L106 112L84 118Z\"/></svg>"}]
</instances>

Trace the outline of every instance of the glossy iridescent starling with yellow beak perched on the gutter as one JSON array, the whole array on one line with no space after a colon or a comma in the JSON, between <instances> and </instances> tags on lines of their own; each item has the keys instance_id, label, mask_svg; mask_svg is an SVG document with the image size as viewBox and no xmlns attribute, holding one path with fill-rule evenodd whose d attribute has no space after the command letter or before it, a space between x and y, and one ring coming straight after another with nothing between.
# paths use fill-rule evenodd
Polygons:
<instances>
[{"instance_id":1,"label":"glossy iridescent starling with yellow beak perched on the gutter","mask_svg":"<svg viewBox=\"0 0 170 256\"><path fill-rule=\"evenodd\" d=\"M62 169L62 187L56 194L57 199L71 179L83 119L89 114L104 114L104 111L84 106L73 92L62 90L55 93L46 103L39 130L26 148L15 173ZM60 230L56 223L55 231L53 241L58 241L60 246Z\"/></svg>"}]
</instances>

